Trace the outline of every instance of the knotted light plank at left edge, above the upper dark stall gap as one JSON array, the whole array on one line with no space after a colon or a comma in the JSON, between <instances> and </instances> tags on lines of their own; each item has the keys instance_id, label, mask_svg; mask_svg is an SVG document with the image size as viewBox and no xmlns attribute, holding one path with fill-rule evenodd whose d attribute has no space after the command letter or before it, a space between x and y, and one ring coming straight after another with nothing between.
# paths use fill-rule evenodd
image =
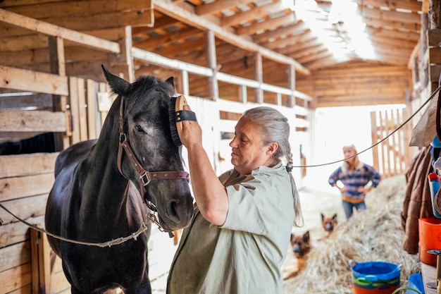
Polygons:
<instances>
[{"instance_id":1,"label":"knotted light plank at left edge, above the upper dark stall gap","mask_svg":"<svg viewBox=\"0 0 441 294\"><path fill-rule=\"evenodd\" d=\"M1 9L0 9L1 11ZM0 65L0 87L48 94L68 95L68 79Z\"/></svg>"}]
</instances>

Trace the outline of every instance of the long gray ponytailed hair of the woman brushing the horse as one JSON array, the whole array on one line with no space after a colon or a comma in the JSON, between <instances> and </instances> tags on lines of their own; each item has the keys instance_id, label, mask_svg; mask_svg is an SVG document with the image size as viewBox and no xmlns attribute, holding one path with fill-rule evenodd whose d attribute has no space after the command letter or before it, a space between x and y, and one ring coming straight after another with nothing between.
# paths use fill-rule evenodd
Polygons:
<instances>
[{"instance_id":1,"label":"long gray ponytailed hair of the woman brushing the horse","mask_svg":"<svg viewBox=\"0 0 441 294\"><path fill-rule=\"evenodd\" d=\"M290 174L292 197L294 200L294 226L303 225L302 207L300 205L299 192L292 177L292 152L290 145L290 124L288 119L280 111L268 106L259 106L248 109L242 114L242 117L249 118L256 128L261 131L263 145L269 145L271 142L278 144L278 149L274 153L275 160L280 161L285 158L287 161L287 172Z\"/></svg>"}]
</instances>

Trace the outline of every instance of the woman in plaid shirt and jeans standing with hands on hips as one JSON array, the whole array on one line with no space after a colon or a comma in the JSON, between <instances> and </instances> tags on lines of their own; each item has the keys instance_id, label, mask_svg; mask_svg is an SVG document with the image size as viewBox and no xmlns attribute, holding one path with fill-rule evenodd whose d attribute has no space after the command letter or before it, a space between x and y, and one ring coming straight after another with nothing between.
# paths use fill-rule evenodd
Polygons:
<instances>
[{"instance_id":1,"label":"woman in plaid shirt and jeans standing with hands on hips","mask_svg":"<svg viewBox=\"0 0 441 294\"><path fill-rule=\"evenodd\" d=\"M372 166L359 160L354 145L343 146L343 154L345 160L342 166L331 173L328 183L342 193L344 214L349 219L354 209L366 210L364 197L380 183L381 177ZM343 183L342 187L337 185L338 180Z\"/></svg>"}]
</instances>

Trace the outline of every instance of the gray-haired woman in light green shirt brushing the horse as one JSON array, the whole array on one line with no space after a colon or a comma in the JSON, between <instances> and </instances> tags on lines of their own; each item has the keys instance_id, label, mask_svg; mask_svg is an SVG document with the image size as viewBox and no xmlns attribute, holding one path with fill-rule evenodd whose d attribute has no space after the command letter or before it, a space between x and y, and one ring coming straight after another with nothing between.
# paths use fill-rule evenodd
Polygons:
<instances>
[{"instance_id":1,"label":"gray-haired woman in light green shirt brushing the horse","mask_svg":"<svg viewBox=\"0 0 441 294\"><path fill-rule=\"evenodd\" d=\"M200 125L182 122L196 204L170 267L168 294L282 293L280 268L292 226L302 221L289 134L279 111L245 111L230 142L234 169L218 177Z\"/></svg>"}]
</instances>

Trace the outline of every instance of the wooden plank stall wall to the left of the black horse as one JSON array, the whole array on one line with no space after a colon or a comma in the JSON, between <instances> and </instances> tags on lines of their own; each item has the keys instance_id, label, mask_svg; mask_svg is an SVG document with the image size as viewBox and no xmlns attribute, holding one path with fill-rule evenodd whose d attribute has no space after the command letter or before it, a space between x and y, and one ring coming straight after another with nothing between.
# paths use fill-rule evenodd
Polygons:
<instances>
[{"instance_id":1,"label":"wooden plank stall wall to the left of the black horse","mask_svg":"<svg viewBox=\"0 0 441 294\"><path fill-rule=\"evenodd\" d=\"M14 68L3 68L12 76L22 73ZM22 74L40 81L33 89L43 94L54 94L47 89L57 89L41 85L54 82L55 75L32 71ZM59 85L64 83L61 88L68 92L56 92L66 94L66 113L23 110L26 106L34 106L32 104L21 105L22 109L0 109L0 137L25 138L42 132L66 132L68 145L97 138L114 98L108 94L107 84L74 77L61 81ZM8 89L32 90L32 85L25 80L14 80L11 84L13 86ZM20 219L44 228L46 200L54 183L57 156L58 152L0 156L0 204ZM29 228L1 208L0 221L0 294L70 293L61 260L54 259L45 242L46 235Z\"/></svg>"}]
</instances>

